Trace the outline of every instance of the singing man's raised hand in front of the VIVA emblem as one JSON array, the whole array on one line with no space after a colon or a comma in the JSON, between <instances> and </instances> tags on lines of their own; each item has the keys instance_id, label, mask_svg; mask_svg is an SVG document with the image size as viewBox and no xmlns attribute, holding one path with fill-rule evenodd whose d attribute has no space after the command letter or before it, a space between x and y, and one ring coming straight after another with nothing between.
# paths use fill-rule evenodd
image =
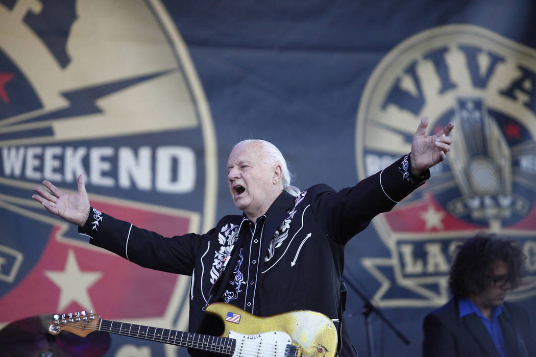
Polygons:
<instances>
[{"instance_id":1,"label":"singing man's raised hand in front of the VIVA emblem","mask_svg":"<svg viewBox=\"0 0 536 357\"><path fill-rule=\"evenodd\" d=\"M428 118L422 117L411 143L411 172L419 176L422 171L442 162L450 151L452 138L449 135L454 127L449 123L435 135L426 136Z\"/></svg>"}]
</instances>

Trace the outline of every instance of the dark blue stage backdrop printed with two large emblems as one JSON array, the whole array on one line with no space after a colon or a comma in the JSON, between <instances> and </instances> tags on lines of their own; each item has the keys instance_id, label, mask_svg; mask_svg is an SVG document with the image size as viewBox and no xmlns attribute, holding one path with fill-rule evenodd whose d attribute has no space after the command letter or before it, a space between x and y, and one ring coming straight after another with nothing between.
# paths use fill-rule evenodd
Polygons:
<instances>
[{"instance_id":1,"label":"dark blue stage backdrop printed with two large emblems","mask_svg":"<svg viewBox=\"0 0 536 357\"><path fill-rule=\"evenodd\" d=\"M0 0L0 322L93 309L187 328L189 277L88 245L31 199L43 179L72 192L85 173L99 210L206 232L237 212L237 141L273 142L300 188L340 189L407 153L423 115L430 133L455 121L455 143L347 246L355 346L368 354L359 289L411 340L372 314L376 355L419 355L452 248L478 231L522 245L510 300L536 319L534 19L528 0ZM185 353L114 336L106 355Z\"/></svg>"}]
</instances>

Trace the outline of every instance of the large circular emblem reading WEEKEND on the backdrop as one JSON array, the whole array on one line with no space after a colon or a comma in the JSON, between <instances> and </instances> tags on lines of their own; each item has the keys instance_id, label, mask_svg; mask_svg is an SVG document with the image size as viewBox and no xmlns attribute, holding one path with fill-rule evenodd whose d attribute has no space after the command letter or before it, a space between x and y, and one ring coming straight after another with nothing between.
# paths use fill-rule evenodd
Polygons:
<instances>
[{"instance_id":1,"label":"large circular emblem reading WEEKEND on the backdrop","mask_svg":"<svg viewBox=\"0 0 536 357\"><path fill-rule=\"evenodd\" d=\"M212 118L165 7L3 2L0 33L0 323L93 309L187 328L188 277L91 246L31 199L44 179L73 192L84 173L107 214L168 237L214 225Z\"/></svg>"}]
</instances>

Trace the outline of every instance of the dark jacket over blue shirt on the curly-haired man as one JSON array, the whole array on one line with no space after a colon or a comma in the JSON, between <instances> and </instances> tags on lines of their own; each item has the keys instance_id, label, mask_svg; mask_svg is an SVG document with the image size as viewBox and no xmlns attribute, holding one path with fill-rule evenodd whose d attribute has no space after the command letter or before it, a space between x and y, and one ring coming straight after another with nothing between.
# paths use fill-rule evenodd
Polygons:
<instances>
[{"instance_id":1,"label":"dark jacket over blue shirt on the curly-haired man","mask_svg":"<svg viewBox=\"0 0 536 357\"><path fill-rule=\"evenodd\" d=\"M536 333L523 308L504 302L498 321L508 357L536 356ZM457 299L428 314L423 330L423 357L500 357L480 317L459 316Z\"/></svg>"}]
</instances>

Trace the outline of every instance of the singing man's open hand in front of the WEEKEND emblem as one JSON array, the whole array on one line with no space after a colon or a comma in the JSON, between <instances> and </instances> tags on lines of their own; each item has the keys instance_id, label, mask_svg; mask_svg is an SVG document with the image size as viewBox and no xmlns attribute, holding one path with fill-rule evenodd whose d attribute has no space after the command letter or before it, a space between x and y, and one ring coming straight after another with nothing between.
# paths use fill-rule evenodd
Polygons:
<instances>
[{"instance_id":1,"label":"singing man's open hand in front of the WEEKEND emblem","mask_svg":"<svg viewBox=\"0 0 536 357\"><path fill-rule=\"evenodd\" d=\"M84 184L84 174L77 178L78 192L67 194L54 186L50 181L44 180L43 185L50 192L42 187L33 188L38 194L33 194L32 198L38 201L51 214L62 217L67 222L83 226L90 216L90 200L87 197L86 185Z\"/></svg>"}]
</instances>

